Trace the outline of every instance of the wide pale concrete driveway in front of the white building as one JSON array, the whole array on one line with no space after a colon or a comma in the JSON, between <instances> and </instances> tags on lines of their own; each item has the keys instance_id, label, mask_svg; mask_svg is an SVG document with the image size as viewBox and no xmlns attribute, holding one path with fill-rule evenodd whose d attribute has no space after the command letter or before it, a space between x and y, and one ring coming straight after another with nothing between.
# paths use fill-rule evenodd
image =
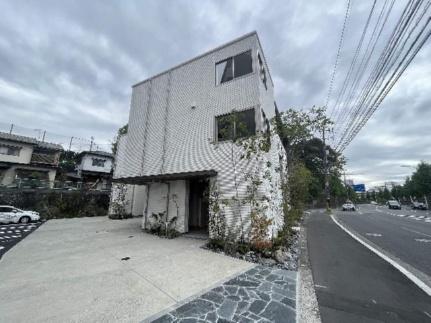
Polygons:
<instances>
[{"instance_id":1,"label":"wide pale concrete driveway in front of the white building","mask_svg":"<svg viewBox=\"0 0 431 323\"><path fill-rule=\"evenodd\" d=\"M0 321L139 322L253 267L202 244L140 219L48 221L0 260Z\"/></svg>"}]
</instances>

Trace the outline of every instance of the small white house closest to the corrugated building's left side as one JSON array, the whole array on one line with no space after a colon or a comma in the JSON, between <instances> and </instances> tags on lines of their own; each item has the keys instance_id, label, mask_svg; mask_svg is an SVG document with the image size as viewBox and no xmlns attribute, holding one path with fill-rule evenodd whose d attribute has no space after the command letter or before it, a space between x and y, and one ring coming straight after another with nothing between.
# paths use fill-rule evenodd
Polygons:
<instances>
[{"instance_id":1,"label":"small white house closest to the corrugated building's left side","mask_svg":"<svg viewBox=\"0 0 431 323\"><path fill-rule=\"evenodd\" d=\"M111 188L114 156L104 151L83 151L78 155L75 177L89 188Z\"/></svg>"}]
</instances>

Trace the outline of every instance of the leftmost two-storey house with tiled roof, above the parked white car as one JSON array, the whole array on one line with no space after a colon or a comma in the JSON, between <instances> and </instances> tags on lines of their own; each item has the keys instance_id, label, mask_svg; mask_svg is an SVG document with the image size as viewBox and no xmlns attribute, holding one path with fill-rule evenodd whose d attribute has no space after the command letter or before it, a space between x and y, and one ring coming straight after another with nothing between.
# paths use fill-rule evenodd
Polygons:
<instances>
[{"instance_id":1,"label":"leftmost two-storey house with tiled roof, above the parked white car","mask_svg":"<svg viewBox=\"0 0 431 323\"><path fill-rule=\"evenodd\" d=\"M61 145L0 132L0 186L53 187Z\"/></svg>"}]
</instances>

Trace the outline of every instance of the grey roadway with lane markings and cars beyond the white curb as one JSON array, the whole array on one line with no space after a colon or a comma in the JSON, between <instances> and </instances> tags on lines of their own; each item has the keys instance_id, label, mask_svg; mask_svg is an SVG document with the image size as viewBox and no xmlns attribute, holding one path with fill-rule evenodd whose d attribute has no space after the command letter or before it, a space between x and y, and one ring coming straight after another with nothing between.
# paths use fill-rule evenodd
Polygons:
<instances>
[{"instance_id":1,"label":"grey roadway with lane markings and cars beyond the white curb","mask_svg":"<svg viewBox=\"0 0 431 323\"><path fill-rule=\"evenodd\" d=\"M428 276L431 284L431 217L426 211L360 206L338 219L375 245Z\"/></svg>"}]
</instances>

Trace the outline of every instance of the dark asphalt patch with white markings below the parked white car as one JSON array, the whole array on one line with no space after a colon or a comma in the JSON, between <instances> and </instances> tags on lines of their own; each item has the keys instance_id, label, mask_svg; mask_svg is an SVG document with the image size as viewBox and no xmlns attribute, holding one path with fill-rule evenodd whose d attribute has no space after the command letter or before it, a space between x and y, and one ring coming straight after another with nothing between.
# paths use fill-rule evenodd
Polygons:
<instances>
[{"instance_id":1,"label":"dark asphalt patch with white markings below the parked white car","mask_svg":"<svg viewBox=\"0 0 431 323\"><path fill-rule=\"evenodd\" d=\"M0 259L14 245L36 230L42 223L0 224Z\"/></svg>"}]
</instances>

